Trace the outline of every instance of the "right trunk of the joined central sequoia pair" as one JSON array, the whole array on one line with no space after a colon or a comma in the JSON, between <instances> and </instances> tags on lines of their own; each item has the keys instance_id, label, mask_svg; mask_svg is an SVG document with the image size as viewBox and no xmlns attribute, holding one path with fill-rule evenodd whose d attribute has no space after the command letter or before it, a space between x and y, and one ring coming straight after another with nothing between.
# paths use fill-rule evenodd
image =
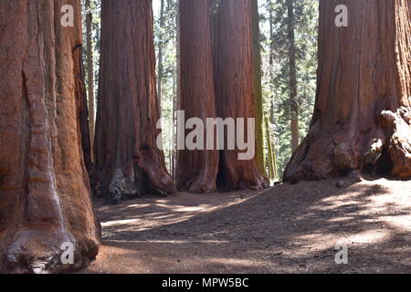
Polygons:
<instances>
[{"instance_id":1,"label":"right trunk of the joined central sequoia pair","mask_svg":"<svg viewBox=\"0 0 411 292\"><path fill-rule=\"evenodd\" d=\"M213 25L217 116L255 118L251 0L221 0L218 10ZM245 128L247 137L246 125ZM258 170L256 157L238 160L239 152L237 147L220 151L219 187L227 190L267 187L269 183Z\"/></svg>"}]
</instances>

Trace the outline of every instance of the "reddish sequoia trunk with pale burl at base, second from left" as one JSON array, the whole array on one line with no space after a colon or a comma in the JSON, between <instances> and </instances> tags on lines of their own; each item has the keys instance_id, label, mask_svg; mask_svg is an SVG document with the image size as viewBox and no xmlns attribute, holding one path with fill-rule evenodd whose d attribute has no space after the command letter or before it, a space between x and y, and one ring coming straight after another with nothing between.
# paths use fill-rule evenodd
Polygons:
<instances>
[{"instance_id":1,"label":"reddish sequoia trunk with pale burl at base, second from left","mask_svg":"<svg viewBox=\"0 0 411 292\"><path fill-rule=\"evenodd\" d=\"M123 196L174 193L156 143L161 131L151 0L102 1L100 62L96 191L117 202Z\"/></svg>"}]
</instances>

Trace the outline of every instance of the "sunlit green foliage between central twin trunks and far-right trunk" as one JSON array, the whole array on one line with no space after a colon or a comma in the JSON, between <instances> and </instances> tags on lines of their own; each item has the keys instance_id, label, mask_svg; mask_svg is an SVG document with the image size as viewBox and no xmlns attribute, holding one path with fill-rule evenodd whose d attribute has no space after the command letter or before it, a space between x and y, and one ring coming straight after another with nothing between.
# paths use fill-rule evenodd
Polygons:
<instances>
[{"instance_id":1,"label":"sunlit green foliage between central twin trunks and far-right trunk","mask_svg":"<svg viewBox=\"0 0 411 292\"><path fill-rule=\"evenodd\" d=\"M279 175L291 156L289 21L286 0L260 0L263 47L263 94L265 114L277 145ZM300 139L307 134L315 101L317 69L318 1L295 0L298 104Z\"/></svg>"}]
</instances>

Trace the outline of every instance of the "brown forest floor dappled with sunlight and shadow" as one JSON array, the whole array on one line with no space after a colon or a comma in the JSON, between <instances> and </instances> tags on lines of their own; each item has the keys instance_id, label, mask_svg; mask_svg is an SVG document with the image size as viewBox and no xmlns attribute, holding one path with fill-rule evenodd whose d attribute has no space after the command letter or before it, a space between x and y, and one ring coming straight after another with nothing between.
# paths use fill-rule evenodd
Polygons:
<instances>
[{"instance_id":1,"label":"brown forest floor dappled with sunlight and shadow","mask_svg":"<svg viewBox=\"0 0 411 292\"><path fill-rule=\"evenodd\" d=\"M103 245L87 273L411 273L409 182L179 193L96 211ZM348 265L335 263L339 244Z\"/></svg>"}]
</instances>

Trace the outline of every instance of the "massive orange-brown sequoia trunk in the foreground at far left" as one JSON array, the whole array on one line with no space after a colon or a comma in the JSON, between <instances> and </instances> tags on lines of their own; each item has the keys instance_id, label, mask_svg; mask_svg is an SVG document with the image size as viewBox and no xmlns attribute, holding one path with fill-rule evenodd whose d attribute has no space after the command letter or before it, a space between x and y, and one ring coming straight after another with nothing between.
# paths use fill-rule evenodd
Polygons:
<instances>
[{"instance_id":1,"label":"massive orange-brown sequoia trunk in the foreground at far left","mask_svg":"<svg viewBox=\"0 0 411 292\"><path fill-rule=\"evenodd\" d=\"M60 25L63 5L74 27ZM0 2L0 270L88 266L99 227L81 148L79 0ZM60 261L63 244L74 264Z\"/></svg>"}]
</instances>

